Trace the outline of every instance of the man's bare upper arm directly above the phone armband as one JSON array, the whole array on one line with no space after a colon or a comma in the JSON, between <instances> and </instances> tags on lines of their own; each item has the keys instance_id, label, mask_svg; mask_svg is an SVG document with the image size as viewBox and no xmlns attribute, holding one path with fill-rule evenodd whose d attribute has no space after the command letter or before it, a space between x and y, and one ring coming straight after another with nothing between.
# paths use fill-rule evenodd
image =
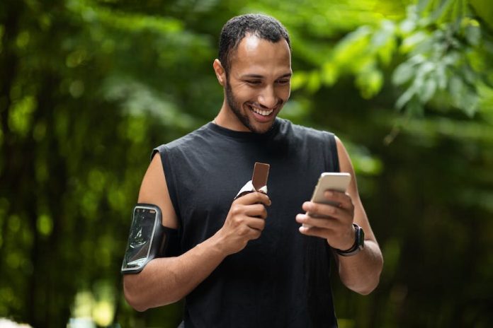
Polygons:
<instances>
[{"instance_id":1,"label":"man's bare upper arm directly above the phone armband","mask_svg":"<svg viewBox=\"0 0 493 328\"><path fill-rule=\"evenodd\" d=\"M140 185L138 202L159 206L163 225L174 229L179 228L178 218L169 197L160 153L154 155L145 172L142 185Z\"/></svg>"}]
</instances>

